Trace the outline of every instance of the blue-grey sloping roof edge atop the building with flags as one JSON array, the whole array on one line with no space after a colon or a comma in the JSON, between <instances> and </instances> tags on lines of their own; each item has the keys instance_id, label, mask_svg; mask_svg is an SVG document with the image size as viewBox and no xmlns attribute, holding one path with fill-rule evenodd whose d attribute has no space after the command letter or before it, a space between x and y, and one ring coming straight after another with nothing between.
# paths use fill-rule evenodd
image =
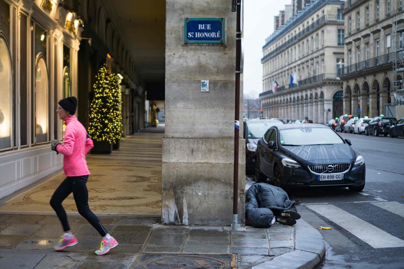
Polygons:
<instances>
[{"instance_id":1,"label":"blue-grey sloping roof edge atop the building with flags","mask_svg":"<svg viewBox=\"0 0 404 269\"><path fill-rule=\"evenodd\" d=\"M263 46L265 48L275 40L278 40L284 33L287 33L288 31L292 30L296 25L301 23L303 20L307 19L311 13L316 11L320 6L322 6L324 3L331 2L331 3L341 3L343 0L318 0L315 3L311 3L309 6L305 7L301 13L298 13L288 23L286 23L282 28L279 30L275 31L272 35L269 36L268 42Z\"/></svg>"}]
</instances>

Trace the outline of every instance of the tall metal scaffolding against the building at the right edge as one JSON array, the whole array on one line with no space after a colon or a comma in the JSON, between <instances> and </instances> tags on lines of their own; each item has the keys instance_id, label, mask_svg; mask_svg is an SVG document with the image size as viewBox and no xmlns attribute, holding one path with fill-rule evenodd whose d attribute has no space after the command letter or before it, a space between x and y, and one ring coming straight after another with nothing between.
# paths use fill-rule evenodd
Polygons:
<instances>
[{"instance_id":1,"label":"tall metal scaffolding against the building at the right edge","mask_svg":"<svg viewBox=\"0 0 404 269\"><path fill-rule=\"evenodd\" d=\"M404 105L404 27L398 29L398 17L393 22L393 105Z\"/></svg>"}]
</instances>

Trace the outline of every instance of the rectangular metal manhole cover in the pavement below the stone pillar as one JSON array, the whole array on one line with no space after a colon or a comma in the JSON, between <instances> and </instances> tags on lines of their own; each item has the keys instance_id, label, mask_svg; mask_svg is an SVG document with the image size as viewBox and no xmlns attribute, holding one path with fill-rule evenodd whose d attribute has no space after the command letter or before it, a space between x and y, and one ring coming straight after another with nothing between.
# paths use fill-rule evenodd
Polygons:
<instances>
[{"instance_id":1,"label":"rectangular metal manhole cover in the pavement below the stone pillar","mask_svg":"<svg viewBox=\"0 0 404 269\"><path fill-rule=\"evenodd\" d=\"M231 255L142 254L138 269L230 269Z\"/></svg>"}]
</instances>

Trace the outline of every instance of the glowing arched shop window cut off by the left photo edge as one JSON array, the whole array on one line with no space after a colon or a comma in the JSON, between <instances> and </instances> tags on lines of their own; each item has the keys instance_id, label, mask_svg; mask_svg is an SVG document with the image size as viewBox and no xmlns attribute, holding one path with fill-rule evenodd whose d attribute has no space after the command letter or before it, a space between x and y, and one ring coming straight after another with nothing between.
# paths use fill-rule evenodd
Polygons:
<instances>
[{"instance_id":1,"label":"glowing arched shop window cut off by the left photo edge","mask_svg":"<svg viewBox=\"0 0 404 269\"><path fill-rule=\"evenodd\" d=\"M0 150L11 148L11 57L0 36Z\"/></svg>"}]
</instances>

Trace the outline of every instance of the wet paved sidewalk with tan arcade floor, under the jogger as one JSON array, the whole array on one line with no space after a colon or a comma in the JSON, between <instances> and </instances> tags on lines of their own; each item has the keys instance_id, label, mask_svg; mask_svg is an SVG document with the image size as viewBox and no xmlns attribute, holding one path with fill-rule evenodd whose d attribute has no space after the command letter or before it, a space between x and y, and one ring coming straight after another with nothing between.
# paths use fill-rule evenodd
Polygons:
<instances>
[{"instance_id":1,"label":"wet paved sidewalk with tan arcade floor, under the jogger","mask_svg":"<svg viewBox=\"0 0 404 269\"><path fill-rule=\"evenodd\" d=\"M52 250L62 230L48 201L53 185L63 179L60 174L0 200L0 268L289 269L321 263L324 239L301 219L294 226L248 226L246 232L161 225L162 133L158 128L146 131L126 138L111 155L88 156L89 204L118 240L116 248L95 255L99 234L67 200L63 205L68 206L79 244L61 252Z\"/></svg>"}]
</instances>

